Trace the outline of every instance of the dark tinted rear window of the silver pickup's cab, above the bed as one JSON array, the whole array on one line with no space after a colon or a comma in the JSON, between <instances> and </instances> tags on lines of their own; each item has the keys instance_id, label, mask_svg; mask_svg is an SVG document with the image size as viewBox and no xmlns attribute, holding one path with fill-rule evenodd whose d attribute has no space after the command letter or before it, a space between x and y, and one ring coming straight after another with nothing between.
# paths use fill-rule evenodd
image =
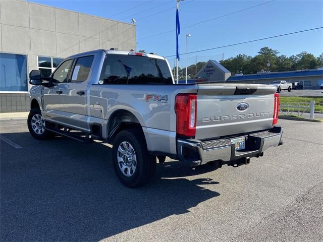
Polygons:
<instances>
[{"instance_id":1,"label":"dark tinted rear window of the silver pickup's cab, above the bed","mask_svg":"<svg viewBox=\"0 0 323 242\"><path fill-rule=\"evenodd\" d=\"M103 84L173 84L165 59L107 54L100 81Z\"/></svg>"}]
</instances>

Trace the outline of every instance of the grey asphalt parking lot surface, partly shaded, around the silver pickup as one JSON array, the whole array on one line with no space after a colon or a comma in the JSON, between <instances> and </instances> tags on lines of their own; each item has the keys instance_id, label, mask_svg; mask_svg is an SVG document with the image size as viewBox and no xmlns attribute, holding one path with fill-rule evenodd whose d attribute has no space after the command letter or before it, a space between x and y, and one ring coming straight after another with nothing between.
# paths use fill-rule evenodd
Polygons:
<instances>
[{"instance_id":1,"label":"grey asphalt parking lot surface, partly shaded, around the silver pickup","mask_svg":"<svg viewBox=\"0 0 323 242\"><path fill-rule=\"evenodd\" d=\"M107 145L38 141L26 120L1 120L1 241L322 241L323 124L279 124L284 145L249 165L168 159L128 189Z\"/></svg>"}]
</instances>

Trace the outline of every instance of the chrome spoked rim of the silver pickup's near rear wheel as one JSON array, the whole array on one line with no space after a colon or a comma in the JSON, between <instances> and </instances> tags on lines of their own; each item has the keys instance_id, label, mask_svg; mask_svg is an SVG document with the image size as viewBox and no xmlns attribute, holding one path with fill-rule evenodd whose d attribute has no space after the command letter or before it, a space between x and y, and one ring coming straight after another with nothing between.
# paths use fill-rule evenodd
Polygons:
<instances>
[{"instance_id":1,"label":"chrome spoked rim of the silver pickup's near rear wheel","mask_svg":"<svg viewBox=\"0 0 323 242\"><path fill-rule=\"evenodd\" d=\"M132 176L137 167L136 153L132 145L124 141L118 147L117 160L123 175Z\"/></svg>"}]
</instances>

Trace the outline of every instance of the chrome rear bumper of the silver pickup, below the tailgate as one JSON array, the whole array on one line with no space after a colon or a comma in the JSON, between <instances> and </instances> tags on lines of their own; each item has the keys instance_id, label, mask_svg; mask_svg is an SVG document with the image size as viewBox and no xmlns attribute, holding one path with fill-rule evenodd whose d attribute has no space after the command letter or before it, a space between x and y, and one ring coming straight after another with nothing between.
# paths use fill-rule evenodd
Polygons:
<instances>
[{"instance_id":1,"label":"chrome rear bumper of the silver pickup, below the tailgate","mask_svg":"<svg viewBox=\"0 0 323 242\"><path fill-rule=\"evenodd\" d=\"M197 166L215 160L230 163L246 157L259 157L267 148L282 144L282 134L282 127L274 127L271 130L239 136L246 140L246 149L241 151L235 150L232 138L204 142L178 139L177 158L188 165Z\"/></svg>"}]
</instances>

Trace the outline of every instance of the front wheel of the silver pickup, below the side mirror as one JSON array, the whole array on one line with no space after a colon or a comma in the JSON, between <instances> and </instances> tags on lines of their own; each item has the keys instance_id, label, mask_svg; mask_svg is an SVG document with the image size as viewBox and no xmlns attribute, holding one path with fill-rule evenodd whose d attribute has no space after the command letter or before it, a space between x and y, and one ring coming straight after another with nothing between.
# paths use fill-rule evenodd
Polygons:
<instances>
[{"instance_id":1,"label":"front wheel of the silver pickup, below the side mirror","mask_svg":"<svg viewBox=\"0 0 323 242\"><path fill-rule=\"evenodd\" d=\"M42 118L39 108L30 110L27 125L29 133L37 140L47 140L55 136L54 133L46 130L45 120Z\"/></svg>"}]
</instances>

